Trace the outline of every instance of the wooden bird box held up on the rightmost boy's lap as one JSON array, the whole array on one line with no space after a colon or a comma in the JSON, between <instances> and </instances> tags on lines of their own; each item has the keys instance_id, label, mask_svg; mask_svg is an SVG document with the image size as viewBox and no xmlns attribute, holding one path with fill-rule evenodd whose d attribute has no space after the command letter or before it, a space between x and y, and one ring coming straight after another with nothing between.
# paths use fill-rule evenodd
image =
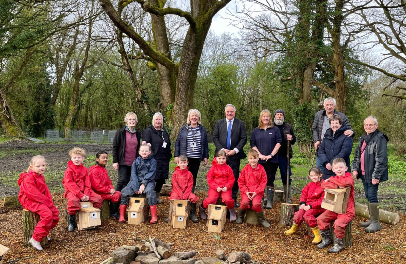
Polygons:
<instances>
[{"instance_id":1,"label":"wooden bird box held up on the rightmost boy's lap","mask_svg":"<svg viewBox=\"0 0 406 264\"><path fill-rule=\"evenodd\" d=\"M351 188L324 189L324 199L321 208L345 214L347 212L347 203L350 196Z\"/></svg>"}]
</instances>

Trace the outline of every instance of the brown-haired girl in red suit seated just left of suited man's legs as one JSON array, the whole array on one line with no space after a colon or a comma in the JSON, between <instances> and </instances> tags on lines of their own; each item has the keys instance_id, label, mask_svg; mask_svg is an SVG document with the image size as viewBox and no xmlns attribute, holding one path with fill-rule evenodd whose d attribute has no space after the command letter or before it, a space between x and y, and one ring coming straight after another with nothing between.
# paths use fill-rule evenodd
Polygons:
<instances>
[{"instance_id":1,"label":"brown-haired girl in red suit seated just left of suited man's legs","mask_svg":"<svg viewBox=\"0 0 406 264\"><path fill-rule=\"evenodd\" d=\"M207 173L207 183L209 185L208 197L200 204L200 218L207 219L206 209L209 204L216 204L217 199L221 196L222 201L230 210L230 222L237 220L234 208L234 200L231 198L232 187L235 181L233 171L226 164L226 153L218 151L213 159L210 170Z\"/></svg>"}]
</instances>

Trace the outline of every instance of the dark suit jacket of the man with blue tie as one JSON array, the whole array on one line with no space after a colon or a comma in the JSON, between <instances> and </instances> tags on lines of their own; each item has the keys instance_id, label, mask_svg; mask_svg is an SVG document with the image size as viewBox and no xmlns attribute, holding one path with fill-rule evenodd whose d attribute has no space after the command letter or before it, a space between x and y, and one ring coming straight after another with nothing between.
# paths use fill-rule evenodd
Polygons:
<instances>
[{"instance_id":1,"label":"dark suit jacket of the man with blue tie","mask_svg":"<svg viewBox=\"0 0 406 264\"><path fill-rule=\"evenodd\" d=\"M227 132L228 124L227 118L217 120L213 131L213 143L216 146L216 153L221 149L227 148ZM229 156L230 159L243 159L247 155L244 153L243 148L247 143L247 133L245 131L245 124L243 121L234 118L233 126L231 128L231 147L230 150L237 148L239 151L233 156Z\"/></svg>"}]
</instances>

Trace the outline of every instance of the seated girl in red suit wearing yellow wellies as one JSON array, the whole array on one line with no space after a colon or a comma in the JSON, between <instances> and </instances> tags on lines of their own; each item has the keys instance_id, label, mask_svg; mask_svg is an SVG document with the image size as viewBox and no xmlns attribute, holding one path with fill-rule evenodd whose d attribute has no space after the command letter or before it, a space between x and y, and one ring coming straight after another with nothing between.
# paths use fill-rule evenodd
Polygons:
<instances>
[{"instance_id":1,"label":"seated girl in red suit wearing yellow wellies","mask_svg":"<svg viewBox=\"0 0 406 264\"><path fill-rule=\"evenodd\" d=\"M321 242L320 229L317 226L316 216L326 211L326 209L321 208L321 202L324 198L324 189L321 188L322 176L318 167L310 169L309 178L312 181L303 188L300 197L299 211L294 213L293 225L291 229L285 231L285 235L290 236L296 233L303 221L306 221L307 225L312 228L313 234L315 234L312 244Z\"/></svg>"}]
</instances>

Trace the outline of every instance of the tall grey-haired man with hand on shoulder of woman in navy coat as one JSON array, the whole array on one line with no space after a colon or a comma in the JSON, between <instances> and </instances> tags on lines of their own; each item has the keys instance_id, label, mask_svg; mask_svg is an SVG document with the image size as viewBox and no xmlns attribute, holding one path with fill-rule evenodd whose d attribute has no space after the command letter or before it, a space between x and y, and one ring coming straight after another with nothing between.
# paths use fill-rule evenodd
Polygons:
<instances>
[{"instance_id":1,"label":"tall grey-haired man with hand on shoulder of woman in navy coat","mask_svg":"<svg viewBox=\"0 0 406 264\"><path fill-rule=\"evenodd\" d=\"M332 97L324 99L323 103L324 110L316 112L315 120L313 121L312 132L313 132L313 142L315 142L315 151L320 147L321 141L324 138L324 134L330 128L329 119L333 114L338 114L342 118L342 126L347 127L344 131L344 135L348 137L353 137L355 131L351 128L350 121L345 114L340 113L336 110L336 100ZM323 171L324 166L320 159L316 158L316 167L319 167Z\"/></svg>"}]
</instances>

